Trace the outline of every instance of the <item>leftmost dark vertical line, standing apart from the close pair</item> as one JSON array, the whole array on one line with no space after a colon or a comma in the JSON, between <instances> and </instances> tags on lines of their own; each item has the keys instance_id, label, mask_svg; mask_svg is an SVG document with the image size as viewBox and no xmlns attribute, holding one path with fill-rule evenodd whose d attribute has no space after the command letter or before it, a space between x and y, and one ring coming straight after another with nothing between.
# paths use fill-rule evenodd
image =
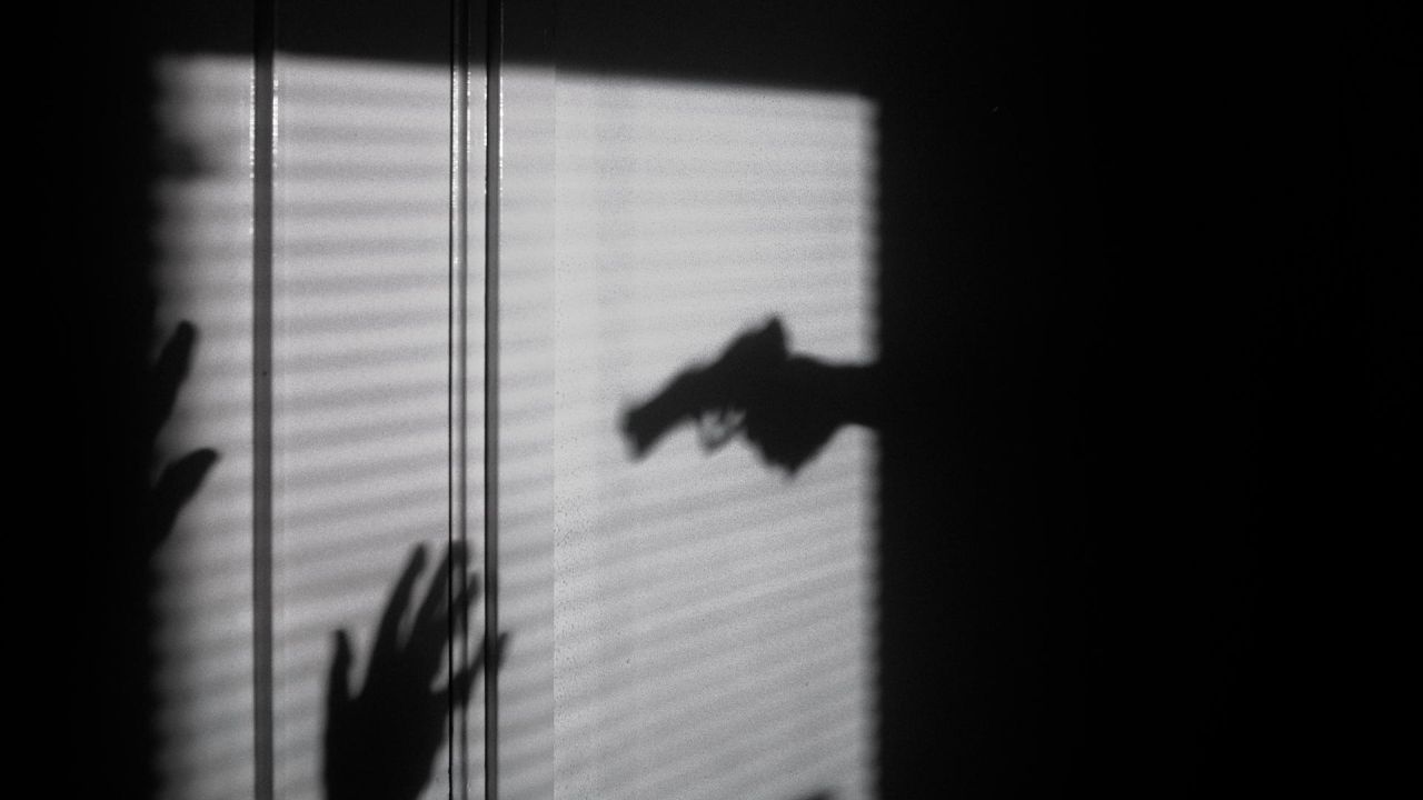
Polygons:
<instances>
[{"instance_id":1,"label":"leftmost dark vertical line, standing apart from the close pair","mask_svg":"<svg viewBox=\"0 0 1423 800\"><path fill-rule=\"evenodd\" d=\"M252 707L253 797L273 800L272 263L276 0L253 4L252 65Z\"/></svg>"}]
</instances>

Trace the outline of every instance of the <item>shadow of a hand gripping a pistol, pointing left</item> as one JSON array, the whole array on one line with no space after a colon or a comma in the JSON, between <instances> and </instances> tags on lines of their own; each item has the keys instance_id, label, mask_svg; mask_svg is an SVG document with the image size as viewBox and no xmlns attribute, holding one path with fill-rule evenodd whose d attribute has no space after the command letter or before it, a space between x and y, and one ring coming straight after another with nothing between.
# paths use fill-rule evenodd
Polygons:
<instances>
[{"instance_id":1,"label":"shadow of a hand gripping a pistol, pointing left","mask_svg":"<svg viewBox=\"0 0 1423 800\"><path fill-rule=\"evenodd\" d=\"M795 474L844 424L882 421L875 364L832 364L791 354L771 317L731 340L710 364L692 364L647 401L628 410L623 436L642 458L673 428L692 423L703 450L739 433L767 464Z\"/></svg>"}]
</instances>

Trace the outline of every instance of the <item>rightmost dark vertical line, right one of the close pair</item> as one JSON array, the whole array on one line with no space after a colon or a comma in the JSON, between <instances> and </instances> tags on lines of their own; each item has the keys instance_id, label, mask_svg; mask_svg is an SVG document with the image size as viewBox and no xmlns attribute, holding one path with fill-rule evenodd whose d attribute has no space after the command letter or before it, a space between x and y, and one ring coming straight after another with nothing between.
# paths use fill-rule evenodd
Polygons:
<instances>
[{"instance_id":1,"label":"rightmost dark vertical line, right one of the close pair","mask_svg":"<svg viewBox=\"0 0 1423 800\"><path fill-rule=\"evenodd\" d=\"M488 0L484 125L484 796L499 796L499 107L504 84L504 4Z\"/></svg>"}]
</instances>

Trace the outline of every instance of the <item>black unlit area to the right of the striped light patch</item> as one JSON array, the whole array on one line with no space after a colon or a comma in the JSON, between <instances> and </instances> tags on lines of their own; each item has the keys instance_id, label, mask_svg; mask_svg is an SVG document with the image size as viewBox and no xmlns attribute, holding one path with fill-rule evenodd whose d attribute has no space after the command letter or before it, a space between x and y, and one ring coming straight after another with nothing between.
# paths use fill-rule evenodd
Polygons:
<instances>
[{"instance_id":1,"label":"black unlit area to the right of the striped light patch","mask_svg":"<svg viewBox=\"0 0 1423 800\"><path fill-rule=\"evenodd\" d=\"M877 70L887 796L1355 780L1403 16L926 9Z\"/></svg>"}]
</instances>

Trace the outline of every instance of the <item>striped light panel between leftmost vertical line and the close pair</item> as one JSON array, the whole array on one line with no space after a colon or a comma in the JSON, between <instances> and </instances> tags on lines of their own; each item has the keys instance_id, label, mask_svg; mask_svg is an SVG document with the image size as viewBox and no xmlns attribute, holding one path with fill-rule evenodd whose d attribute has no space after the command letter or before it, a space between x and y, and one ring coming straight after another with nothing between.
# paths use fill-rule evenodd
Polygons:
<instances>
[{"instance_id":1,"label":"striped light panel between leftmost vertical line and the close pair","mask_svg":"<svg viewBox=\"0 0 1423 800\"><path fill-rule=\"evenodd\" d=\"M332 632L367 653L411 547L430 545L428 578L450 530L451 77L286 54L276 67L275 789L319 797ZM447 796L444 756L434 774L427 796Z\"/></svg>"}]
</instances>

